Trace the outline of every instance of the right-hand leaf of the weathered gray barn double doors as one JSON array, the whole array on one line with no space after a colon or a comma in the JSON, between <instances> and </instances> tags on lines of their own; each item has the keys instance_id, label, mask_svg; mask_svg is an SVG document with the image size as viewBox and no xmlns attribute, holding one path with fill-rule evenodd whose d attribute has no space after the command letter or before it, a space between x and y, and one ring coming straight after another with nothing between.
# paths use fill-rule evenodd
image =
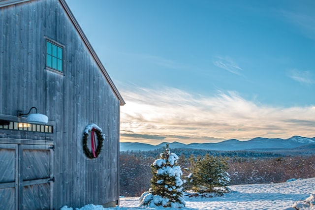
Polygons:
<instances>
[{"instance_id":1,"label":"right-hand leaf of the weathered gray barn double doors","mask_svg":"<svg viewBox=\"0 0 315 210\"><path fill-rule=\"evenodd\" d=\"M52 207L52 152L48 145L20 145L20 210Z\"/></svg>"}]
</instances>

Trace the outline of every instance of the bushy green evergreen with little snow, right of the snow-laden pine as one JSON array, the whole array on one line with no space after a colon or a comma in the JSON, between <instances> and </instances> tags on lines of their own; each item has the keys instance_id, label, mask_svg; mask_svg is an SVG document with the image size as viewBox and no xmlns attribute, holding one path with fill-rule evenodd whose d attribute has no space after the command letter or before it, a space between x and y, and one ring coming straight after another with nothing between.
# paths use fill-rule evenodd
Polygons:
<instances>
[{"instance_id":1,"label":"bushy green evergreen with little snow, right of the snow-laden pine","mask_svg":"<svg viewBox=\"0 0 315 210\"><path fill-rule=\"evenodd\" d=\"M230 182L227 159L206 154L204 157L191 155L190 174L188 176L187 188L195 191L206 192L228 192L227 184Z\"/></svg>"}]
</instances>

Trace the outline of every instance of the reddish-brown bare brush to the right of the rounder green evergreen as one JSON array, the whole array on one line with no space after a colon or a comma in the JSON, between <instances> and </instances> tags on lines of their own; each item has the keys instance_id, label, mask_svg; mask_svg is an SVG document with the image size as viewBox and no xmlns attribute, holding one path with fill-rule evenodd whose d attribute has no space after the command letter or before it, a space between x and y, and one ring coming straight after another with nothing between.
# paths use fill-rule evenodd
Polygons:
<instances>
[{"instance_id":1,"label":"reddish-brown bare brush to the right of the rounder green evergreen","mask_svg":"<svg viewBox=\"0 0 315 210\"><path fill-rule=\"evenodd\" d=\"M292 178L313 178L314 161L315 156L231 159L228 169L230 184L278 183Z\"/></svg>"}]
</instances>

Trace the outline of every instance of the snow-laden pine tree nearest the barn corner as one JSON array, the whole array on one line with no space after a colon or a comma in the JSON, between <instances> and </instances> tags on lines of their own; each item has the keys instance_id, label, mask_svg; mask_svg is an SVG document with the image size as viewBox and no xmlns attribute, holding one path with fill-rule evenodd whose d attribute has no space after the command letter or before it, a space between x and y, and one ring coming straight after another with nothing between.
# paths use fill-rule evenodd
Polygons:
<instances>
[{"instance_id":1,"label":"snow-laden pine tree nearest the barn corner","mask_svg":"<svg viewBox=\"0 0 315 210\"><path fill-rule=\"evenodd\" d=\"M186 203L183 199L183 173L178 165L178 156L170 152L168 144L163 149L160 158L151 165L151 188L141 195L141 205L183 208Z\"/></svg>"}]
</instances>

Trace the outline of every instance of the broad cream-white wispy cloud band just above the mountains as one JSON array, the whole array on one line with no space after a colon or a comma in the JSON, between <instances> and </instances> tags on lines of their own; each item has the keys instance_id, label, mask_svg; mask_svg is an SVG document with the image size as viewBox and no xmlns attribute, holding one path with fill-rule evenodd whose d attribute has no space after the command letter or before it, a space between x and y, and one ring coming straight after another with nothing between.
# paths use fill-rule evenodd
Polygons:
<instances>
[{"instance_id":1,"label":"broad cream-white wispy cloud band just above the mountains","mask_svg":"<svg viewBox=\"0 0 315 210\"><path fill-rule=\"evenodd\" d=\"M126 100L121 107L121 141L158 144L315 136L315 127L310 126L315 122L315 106L266 106L235 91L218 91L212 97L168 87L121 92Z\"/></svg>"}]
</instances>

